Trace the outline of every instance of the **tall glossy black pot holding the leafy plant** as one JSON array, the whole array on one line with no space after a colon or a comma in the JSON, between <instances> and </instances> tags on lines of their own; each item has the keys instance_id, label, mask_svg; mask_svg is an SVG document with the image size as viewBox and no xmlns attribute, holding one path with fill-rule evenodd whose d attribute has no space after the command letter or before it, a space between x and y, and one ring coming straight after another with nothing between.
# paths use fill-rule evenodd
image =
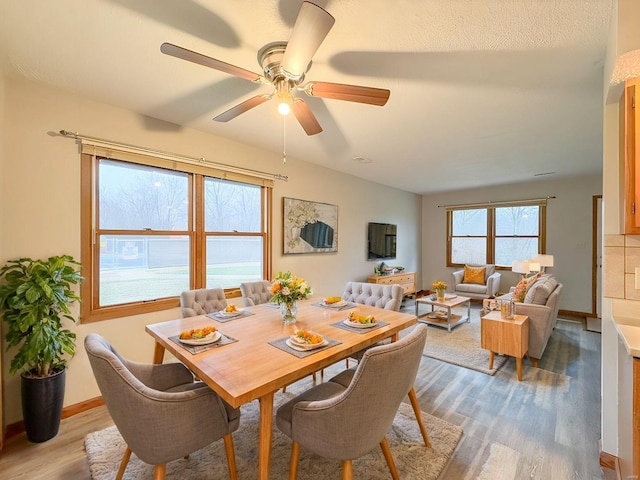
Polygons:
<instances>
[{"instance_id":1,"label":"tall glossy black pot holding the leafy plant","mask_svg":"<svg viewBox=\"0 0 640 480\"><path fill-rule=\"evenodd\" d=\"M46 442L58 434L65 378L66 370L46 378L22 376L22 416L30 442Z\"/></svg>"}]
</instances>

